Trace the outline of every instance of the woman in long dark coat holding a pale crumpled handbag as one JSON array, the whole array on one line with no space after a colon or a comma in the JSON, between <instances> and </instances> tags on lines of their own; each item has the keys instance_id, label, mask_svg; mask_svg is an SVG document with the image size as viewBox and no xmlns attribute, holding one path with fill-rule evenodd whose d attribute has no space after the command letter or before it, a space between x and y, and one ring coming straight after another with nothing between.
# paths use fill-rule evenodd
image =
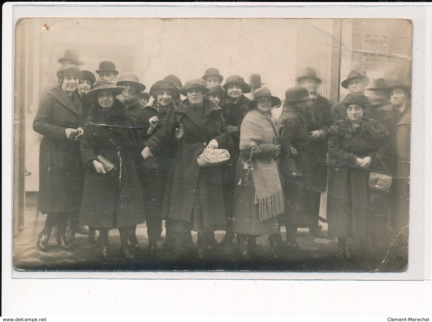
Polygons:
<instances>
[{"instance_id":1,"label":"woman in long dark coat holding a pale crumpled handbag","mask_svg":"<svg viewBox=\"0 0 432 322\"><path fill-rule=\"evenodd\" d=\"M231 138L226 132L222 108L204 97L208 89L203 79L191 79L180 92L187 99L147 140L142 155L144 159L158 155L182 126L183 137L168 178L162 218L172 220L176 240L190 253L194 249L191 230L204 233L205 242L200 247L206 248L213 245L214 231L226 224L220 166L200 168L197 157L205 148L228 148Z\"/></svg>"}]
</instances>

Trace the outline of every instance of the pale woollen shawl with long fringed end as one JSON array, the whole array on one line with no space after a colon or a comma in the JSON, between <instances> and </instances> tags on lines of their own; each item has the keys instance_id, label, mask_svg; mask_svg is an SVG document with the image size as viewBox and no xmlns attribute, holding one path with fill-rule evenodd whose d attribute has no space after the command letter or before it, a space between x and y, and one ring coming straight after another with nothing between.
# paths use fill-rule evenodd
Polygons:
<instances>
[{"instance_id":1,"label":"pale woollen shawl with long fringed end","mask_svg":"<svg viewBox=\"0 0 432 322\"><path fill-rule=\"evenodd\" d=\"M277 136L276 125L270 116L253 109L246 114L241 123L240 150L254 147L257 144L273 144L273 139ZM246 163L250 163L254 178L255 204L258 205L260 221L283 213L282 185L276 160L248 156Z\"/></svg>"}]
</instances>

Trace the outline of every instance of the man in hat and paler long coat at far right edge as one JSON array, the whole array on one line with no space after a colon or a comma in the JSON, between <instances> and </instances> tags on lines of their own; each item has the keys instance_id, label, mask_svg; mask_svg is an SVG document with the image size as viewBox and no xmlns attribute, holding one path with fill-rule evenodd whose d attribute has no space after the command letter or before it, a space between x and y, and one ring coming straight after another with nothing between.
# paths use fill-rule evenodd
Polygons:
<instances>
[{"instance_id":1,"label":"man in hat and paler long coat at far right edge","mask_svg":"<svg viewBox=\"0 0 432 322\"><path fill-rule=\"evenodd\" d=\"M388 86L390 102L394 108L394 135L396 167L391 185L393 197L391 227L396 239L396 251L391 254L389 262L403 268L408 262L408 219L410 199L410 134L411 134L411 88L399 80Z\"/></svg>"}]
</instances>

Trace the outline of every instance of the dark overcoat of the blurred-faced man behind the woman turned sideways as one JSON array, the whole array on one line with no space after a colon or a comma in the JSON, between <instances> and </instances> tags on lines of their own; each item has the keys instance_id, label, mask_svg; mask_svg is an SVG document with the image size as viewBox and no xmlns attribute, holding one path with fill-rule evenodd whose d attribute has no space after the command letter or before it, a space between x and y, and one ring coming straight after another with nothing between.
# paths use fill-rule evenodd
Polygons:
<instances>
[{"instance_id":1,"label":"dark overcoat of the blurred-faced man behind the woman turned sideways","mask_svg":"<svg viewBox=\"0 0 432 322\"><path fill-rule=\"evenodd\" d=\"M323 130L327 132L333 124L330 102L318 95L314 105L310 107L313 120L308 120L308 131ZM313 171L313 186L316 191L324 193L327 186L327 142L325 136L309 142L309 159Z\"/></svg>"}]
</instances>

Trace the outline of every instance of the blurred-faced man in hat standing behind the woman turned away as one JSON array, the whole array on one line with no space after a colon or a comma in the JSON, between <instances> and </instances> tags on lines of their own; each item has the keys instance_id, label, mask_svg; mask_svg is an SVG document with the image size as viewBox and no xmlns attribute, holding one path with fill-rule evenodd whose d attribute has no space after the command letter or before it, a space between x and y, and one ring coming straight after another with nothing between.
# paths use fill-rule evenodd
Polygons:
<instances>
[{"instance_id":1,"label":"blurred-faced man in hat standing behind the woman turned away","mask_svg":"<svg viewBox=\"0 0 432 322\"><path fill-rule=\"evenodd\" d=\"M310 133L309 137L309 149L310 157L313 169L313 180L314 186L317 192L325 193L327 186L327 147L325 142L325 134L327 133L330 126L333 124L331 116L330 102L327 98L318 95L317 87L321 83L315 71L311 68L306 68L299 77L297 77L297 83L299 86L306 88L309 93L309 101L306 109L306 123ZM316 200L314 202L318 204L321 201L321 195L314 194ZM316 236L323 238L324 234L321 231L322 226L318 224L319 212L317 212L314 218L314 223L309 226L309 232Z\"/></svg>"}]
</instances>

